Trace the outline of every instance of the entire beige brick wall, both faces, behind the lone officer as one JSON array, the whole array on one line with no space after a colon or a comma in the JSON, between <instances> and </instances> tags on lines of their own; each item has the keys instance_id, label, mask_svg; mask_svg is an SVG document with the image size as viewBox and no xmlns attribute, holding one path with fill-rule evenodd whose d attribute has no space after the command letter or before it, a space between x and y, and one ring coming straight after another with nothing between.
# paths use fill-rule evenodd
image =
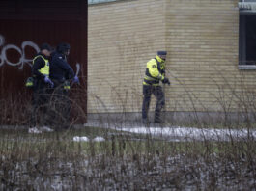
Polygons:
<instances>
[{"instance_id":1,"label":"entire beige brick wall, both faces, behind the lone officer","mask_svg":"<svg viewBox=\"0 0 256 191\"><path fill-rule=\"evenodd\" d=\"M88 113L140 111L159 49L169 52L167 111L237 111L255 90L256 71L238 69L238 1L117 1L89 6L88 21Z\"/></svg>"}]
</instances>

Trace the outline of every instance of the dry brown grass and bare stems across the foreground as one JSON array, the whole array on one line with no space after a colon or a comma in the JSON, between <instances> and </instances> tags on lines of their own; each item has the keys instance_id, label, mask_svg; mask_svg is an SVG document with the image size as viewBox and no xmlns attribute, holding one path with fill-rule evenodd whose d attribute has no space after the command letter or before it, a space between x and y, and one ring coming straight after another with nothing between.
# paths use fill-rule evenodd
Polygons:
<instances>
[{"instance_id":1,"label":"dry brown grass and bare stems across the foreground","mask_svg":"<svg viewBox=\"0 0 256 191\"><path fill-rule=\"evenodd\" d=\"M194 95L186 90L193 102ZM232 127L230 103L225 102L225 93L221 91L219 87L220 96L217 96L216 102L222 106L225 117L219 121L219 126ZM254 102L251 102L254 99L249 98L251 93L248 94L247 98L242 98L233 93L237 97L236 103L242 105L242 115L247 116L241 124L251 130L254 128L251 113L255 110ZM128 103L121 95L117 97L121 100L116 101L124 104L122 108L126 112ZM99 96L95 95L94 98L104 105ZM69 101L74 114L71 127L86 115L81 97L73 95ZM0 122L14 126L28 125L27 116L31 111L28 102L12 98L0 101ZM209 125L197 116L195 104L191 105L194 105L196 115L193 124L200 127ZM109 120L109 123L115 122ZM256 189L256 142L251 136L242 141L231 137L230 142L206 139L170 142L151 135L89 127L40 135L31 135L25 130L5 129L0 134L0 190ZM106 141L72 141L73 136L93 138L98 135Z\"/></svg>"}]
</instances>

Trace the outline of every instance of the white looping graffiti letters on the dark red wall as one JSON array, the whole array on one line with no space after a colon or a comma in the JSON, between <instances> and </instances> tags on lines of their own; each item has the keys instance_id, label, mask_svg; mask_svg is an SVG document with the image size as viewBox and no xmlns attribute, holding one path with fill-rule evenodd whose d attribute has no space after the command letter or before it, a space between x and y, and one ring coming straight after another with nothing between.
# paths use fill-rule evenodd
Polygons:
<instances>
[{"instance_id":1,"label":"white looping graffiti letters on the dark red wall","mask_svg":"<svg viewBox=\"0 0 256 191\"><path fill-rule=\"evenodd\" d=\"M19 69L23 69L24 65L29 65L32 67L32 61L33 59L27 58L25 49L26 47L31 47L33 48L36 52L40 51L39 46L33 42L33 41L23 41L21 43L21 47L18 47L14 44L6 44L5 45L5 38L0 35L0 67L3 67L4 64L7 64L9 66L17 67ZM8 50L14 50L16 51L20 57L19 60L16 63L11 62L8 57L7 57L7 51ZM76 74L79 73L80 70L80 64L76 64Z\"/></svg>"}]
</instances>

